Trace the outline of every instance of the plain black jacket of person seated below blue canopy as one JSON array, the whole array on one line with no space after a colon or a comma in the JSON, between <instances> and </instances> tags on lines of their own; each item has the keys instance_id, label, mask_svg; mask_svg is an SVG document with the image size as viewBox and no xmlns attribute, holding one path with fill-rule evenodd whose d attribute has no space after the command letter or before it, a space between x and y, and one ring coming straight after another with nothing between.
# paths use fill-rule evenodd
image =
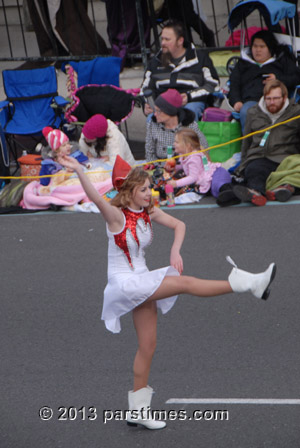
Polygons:
<instances>
[{"instance_id":1,"label":"plain black jacket of person seated below blue canopy","mask_svg":"<svg viewBox=\"0 0 300 448\"><path fill-rule=\"evenodd\" d=\"M246 59L244 59L246 58ZM234 106L237 102L259 101L263 95L263 74L274 73L282 81L289 94L300 84L300 69L292 55L282 51L273 62L259 66L248 53L240 59L230 75L229 102Z\"/></svg>"}]
</instances>

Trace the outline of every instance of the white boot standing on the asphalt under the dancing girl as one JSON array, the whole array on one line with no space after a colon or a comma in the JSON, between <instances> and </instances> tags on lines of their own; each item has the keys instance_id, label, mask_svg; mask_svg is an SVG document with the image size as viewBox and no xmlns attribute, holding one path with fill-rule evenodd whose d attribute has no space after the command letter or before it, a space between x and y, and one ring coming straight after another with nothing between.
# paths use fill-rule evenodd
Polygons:
<instances>
[{"instance_id":1,"label":"white boot standing on the asphalt under the dancing girl","mask_svg":"<svg viewBox=\"0 0 300 448\"><path fill-rule=\"evenodd\" d=\"M166 422L154 420L151 415L151 398L153 389L150 386L133 392L128 392L129 412L127 413L127 425L142 425L147 429L162 429Z\"/></svg>"}]
</instances>

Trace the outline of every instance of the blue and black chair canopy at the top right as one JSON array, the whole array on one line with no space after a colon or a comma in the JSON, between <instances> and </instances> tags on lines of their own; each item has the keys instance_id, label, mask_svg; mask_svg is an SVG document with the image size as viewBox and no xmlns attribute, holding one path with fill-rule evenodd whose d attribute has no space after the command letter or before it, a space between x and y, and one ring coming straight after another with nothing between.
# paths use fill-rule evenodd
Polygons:
<instances>
[{"instance_id":1,"label":"blue and black chair canopy at the top right","mask_svg":"<svg viewBox=\"0 0 300 448\"><path fill-rule=\"evenodd\" d=\"M229 29L233 31L244 18L256 9L263 16L267 26L276 25L285 18L291 19L296 13L295 5L281 0L245 0L232 8L228 18Z\"/></svg>"}]
</instances>

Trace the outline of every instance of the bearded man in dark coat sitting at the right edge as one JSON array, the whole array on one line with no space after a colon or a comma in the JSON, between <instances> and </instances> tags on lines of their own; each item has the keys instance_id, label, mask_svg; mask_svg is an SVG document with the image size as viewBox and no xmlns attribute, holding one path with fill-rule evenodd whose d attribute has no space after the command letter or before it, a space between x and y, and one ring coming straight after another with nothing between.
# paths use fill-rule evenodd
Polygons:
<instances>
[{"instance_id":1,"label":"bearded man in dark coat sitting at the right edge","mask_svg":"<svg viewBox=\"0 0 300 448\"><path fill-rule=\"evenodd\" d=\"M245 133L263 130L274 124L283 123L300 115L300 105L288 99L286 86L279 80L268 82L264 96L256 106L249 109ZM254 205L267 202L266 180L279 164L292 154L300 152L299 120L283 123L266 132L260 132L243 140L241 164L236 173L244 177L244 185L232 186L220 193L217 203L231 205L233 198ZM290 191L288 185L282 189Z\"/></svg>"}]
</instances>

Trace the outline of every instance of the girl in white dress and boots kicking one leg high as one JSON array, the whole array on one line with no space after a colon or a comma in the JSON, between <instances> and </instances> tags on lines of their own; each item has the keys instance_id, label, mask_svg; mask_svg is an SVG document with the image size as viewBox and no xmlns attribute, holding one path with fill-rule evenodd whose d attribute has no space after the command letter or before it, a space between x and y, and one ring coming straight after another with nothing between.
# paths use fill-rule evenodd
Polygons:
<instances>
[{"instance_id":1,"label":"girl in white dress and boots kicking one leg high","mask_svg":"<svg viewBox=\"0 0 300 448\"><path fill-rule=\"evenodd\" d=\"M114 165L112 181L119 191L108 203L94 189L81 165L64 156L59 162L76 171L91 201L99 208L107 223L108 283L104 291L102 319L108 330L120 331L120 317L129 311L138 339L133 371L133 390L128 393L127 423L140 424L149 429L165 427L149 415L152 389L148 386L150 366L156 345L157 308L163 313L174 305L178 294L199 297L217 296L250 291L255 297L267 299L269 285L275 276L275 264L260 274L232 269L228 280L201 280L181 275L183 262L180 248L185 235L185 224L153 207L148 174L141 168L131 169L119 156ZM144 249L152 240L154 221L174 231L170 266L149 271Z\"/></svg>"}]
</instances>

